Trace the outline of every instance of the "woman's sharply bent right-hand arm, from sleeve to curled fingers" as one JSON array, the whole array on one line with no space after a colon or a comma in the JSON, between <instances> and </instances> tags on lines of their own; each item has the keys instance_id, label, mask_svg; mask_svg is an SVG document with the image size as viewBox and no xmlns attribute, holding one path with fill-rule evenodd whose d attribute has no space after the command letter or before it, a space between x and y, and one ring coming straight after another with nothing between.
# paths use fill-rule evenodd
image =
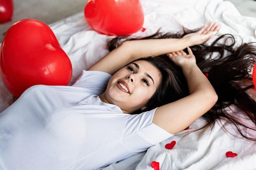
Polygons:
<instances>
[{"instance_id":1,"label":"woman's sharply bent right-hand arm, from sleeve to curled fingers","mask_svg":"<svg viewBox=\"0 0 256 170\"><path fill-rule=\"evenodd\" d=\"M178 101L158 107L152 122L171 134L184 130L200 118L217 102L218 96L206 76L195 64L191 49L168 54L170 59L182 68L190 95Z\"/></svg>"}]
</instances>

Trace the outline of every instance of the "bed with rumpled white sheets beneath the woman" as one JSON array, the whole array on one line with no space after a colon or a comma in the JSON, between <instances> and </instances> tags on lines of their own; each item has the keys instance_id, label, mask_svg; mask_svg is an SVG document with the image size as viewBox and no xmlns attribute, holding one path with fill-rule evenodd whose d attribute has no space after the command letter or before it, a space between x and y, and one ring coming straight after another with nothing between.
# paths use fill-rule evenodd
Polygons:
<instances>
[{"instance_id":1,"label":"bed with rumpled white sheets beneath the woman","mask_svg":"<svg viewBox=\"0 0 256 170\"><path fill-rule=\"evenodd\" d=\"M134 36L148 36L160 27L163 32L178 32L182 27L192 30L202 27L204 23L217 21L221 26L218 34L239 35L243 42L256 42L256 18L241 16L230 1L141 0L141 3L145 15L143 27L146 30L138 31ZM75 82L84 69L108 53L108 36L92 30L85 21L83 11L49 26L71 60L73 74L69 85ZM214 38L216 36L208 43ZM241 40L238 42L241 43ZM12 103L12 95L0 81L0 112ZM231 113L237 112L232 107L229 110ZM224 124L227 123L219 121L212 133L203 129L181 138L184 134L180 132L143 153L98 170L158 170L157 166L160 170L256 170L256 145L227 134L222 127ZM199 118L186 131L203 125L204 121ZM232 126L227 126L238 136ZM172 149L166 148L174 141L176 144ZM227 152L237 155L227 157Z\"/></svg>"}]
</instances>

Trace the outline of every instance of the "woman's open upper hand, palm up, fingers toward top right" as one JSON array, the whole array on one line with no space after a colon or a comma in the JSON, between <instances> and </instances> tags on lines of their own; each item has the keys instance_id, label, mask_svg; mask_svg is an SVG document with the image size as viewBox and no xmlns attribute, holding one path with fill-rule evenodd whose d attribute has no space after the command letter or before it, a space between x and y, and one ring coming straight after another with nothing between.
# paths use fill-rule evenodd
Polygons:
<instances>
[{"instance_id":1,"label":"woman's open upper hand, palm up, fingers toward top right","mask_svg":"<svg viewBox=\"0 0 256 170\"><path fill-rule=\"evenodd\" d=\"M198 32L187 34L182 38L187 39L190 46L202 44L217 34L219 28L217 23L211 22L208 26L205 24Z\"/></svg>"}]
</instances>

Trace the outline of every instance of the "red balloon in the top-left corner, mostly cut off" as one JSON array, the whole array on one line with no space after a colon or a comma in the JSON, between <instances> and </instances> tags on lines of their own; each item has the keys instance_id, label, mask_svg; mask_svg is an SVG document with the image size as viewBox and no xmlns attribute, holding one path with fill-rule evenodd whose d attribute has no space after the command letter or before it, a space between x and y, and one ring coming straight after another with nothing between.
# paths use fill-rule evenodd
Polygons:
<instances>
[{"instance_id":1,"label":"red balloon in the top-left corner, mostly cut off","mask_svg":"<svg viewBox=\"0 0 256 170\"><path fill-rule=\"evenodd\" d=\"M0 23L12 20L13 1L0 0Z\"/></svg>"}]
</instances>

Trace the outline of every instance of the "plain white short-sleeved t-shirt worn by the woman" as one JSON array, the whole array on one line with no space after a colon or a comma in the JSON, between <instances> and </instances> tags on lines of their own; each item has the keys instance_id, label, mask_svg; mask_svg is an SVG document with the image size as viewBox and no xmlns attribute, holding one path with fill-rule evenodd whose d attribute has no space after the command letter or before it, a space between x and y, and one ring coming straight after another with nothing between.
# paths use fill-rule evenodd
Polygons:
<instances>
[{"instance_id":1,"label":"plain white short-sleeved t-shirt worn by the woman","mask_svg":"<svg viewBox=\"0 0 256 170\"><path fill-rule=\"evenodd\" d=\"M171 136L137 115L102 102L111 77L83 71L72 86L34 85L0 113L0 169L92 170L147 150Z\"/></svg>"}]
</instances>

